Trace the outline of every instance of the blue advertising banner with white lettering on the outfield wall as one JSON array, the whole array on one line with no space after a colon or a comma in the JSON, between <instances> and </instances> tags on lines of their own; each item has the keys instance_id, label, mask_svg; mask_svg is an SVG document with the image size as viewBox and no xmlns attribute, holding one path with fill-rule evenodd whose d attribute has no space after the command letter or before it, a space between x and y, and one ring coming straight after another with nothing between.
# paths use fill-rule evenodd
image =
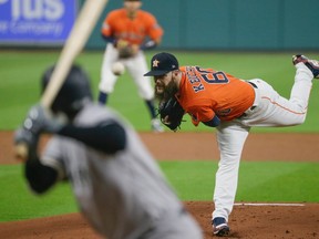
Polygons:
<instances>
[{"instance_id":1,"label":"blue advertising banner with white lettering on the outfield wall","mask_svg":"<svg viewBox=\"0 0 319 239\"><path fill-rule=\"evenodd\" d=\"M61 45L76 11L78 0L0 0L0 44Z\"/></svg>"}]
</instances>

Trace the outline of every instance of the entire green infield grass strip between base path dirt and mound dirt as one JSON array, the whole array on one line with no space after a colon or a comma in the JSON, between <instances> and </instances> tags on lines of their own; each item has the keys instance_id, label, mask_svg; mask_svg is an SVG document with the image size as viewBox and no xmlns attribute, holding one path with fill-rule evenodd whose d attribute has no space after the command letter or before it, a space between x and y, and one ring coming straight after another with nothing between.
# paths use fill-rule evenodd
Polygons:
<instances>
[{"instance_id":1,"label":"entire green infield grass strip between base path dirt and mound dirt","mask_svg":"<svg viewBox=\"0 0 319 239\"><path fill-rule=\"evenodd\" d=\"M217 162L160 162L182 200L210 201ZM318 163L241 162L236 201L318 202ZM0 221L76 211L68 183L31 194L21 165L0 166Z\"/></svg>"}]
</instances>

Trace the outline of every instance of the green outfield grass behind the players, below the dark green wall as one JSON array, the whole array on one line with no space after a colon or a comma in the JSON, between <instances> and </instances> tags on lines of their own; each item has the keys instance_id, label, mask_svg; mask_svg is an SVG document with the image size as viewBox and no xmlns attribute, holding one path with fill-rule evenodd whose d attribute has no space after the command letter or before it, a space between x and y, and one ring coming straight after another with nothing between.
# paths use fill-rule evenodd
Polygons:
<instances>
[{"instance_id":1,"label":"green outfield grass behind the players, below the dark green wall","mask_svg":"<svg viewBox=\"0 0 319 239\"><path fill-rule=\"evenodd\" d=\"M147 60L155 51L147 52ZM269 82L282 96L289 97L295 67L292 52L183 52L173 51L181 65L200 65L226 71L241 79L261 77ZM0 129L17 128L28 108L40 98L39 80L44 69L53 64L60 51L1 51L0 53ZM316 53L307 53L318 59ZM100 67L103 51L83 52L76 63L83 65L92 79L94 96L97 95ZM315 82L309 103L308 117L303 125L280 128L254 128L256 132L319 132L319 86ZM137 131L150 131L150 115L144 102L137 95L136 86L127 73L119 79L115 92L110 96L110 106L123 114ZM182 131L212 131L203 125L194 127L188 116ZM214 129L213 129L214 131Z\"/></svg>"}]
</instances>

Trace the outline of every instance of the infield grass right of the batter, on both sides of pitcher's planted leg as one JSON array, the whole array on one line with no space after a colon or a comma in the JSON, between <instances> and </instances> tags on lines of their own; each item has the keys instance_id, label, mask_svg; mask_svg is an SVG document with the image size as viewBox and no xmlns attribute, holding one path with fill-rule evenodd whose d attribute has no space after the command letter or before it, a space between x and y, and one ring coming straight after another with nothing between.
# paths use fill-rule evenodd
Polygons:
<instances>
[{"instance_id":1,"label":"infield grass right of the batter, on both sides of pitcher's planted leg","mask_svg":"<svg viewBox=\"0 0 319 239\"><path fill-rule=\"evenodd\" d=\"M212 200L216 162L161 162L183 200ZM236 201L318 202L318 163L241 162Z\"/></svg>"}]
</instances>

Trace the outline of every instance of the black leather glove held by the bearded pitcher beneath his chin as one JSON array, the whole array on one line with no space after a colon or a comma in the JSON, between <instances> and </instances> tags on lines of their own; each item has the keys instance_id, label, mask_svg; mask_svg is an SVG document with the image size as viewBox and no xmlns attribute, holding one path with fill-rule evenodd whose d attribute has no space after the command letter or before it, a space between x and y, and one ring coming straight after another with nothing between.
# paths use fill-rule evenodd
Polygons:
<instances>
[{"instance_id":1,"label":"black leather glove held by the bearded pitcher beneath his chin","mask_svg":"<svg viewBox=\"0 0 319 239\"><path fill-rule=\"evenodd\" d=\"M185 111L176 97L173 96L168 101L160 103L158 114L161 122L176 132L179 128Z\"/></svg>"}]
</instances>

